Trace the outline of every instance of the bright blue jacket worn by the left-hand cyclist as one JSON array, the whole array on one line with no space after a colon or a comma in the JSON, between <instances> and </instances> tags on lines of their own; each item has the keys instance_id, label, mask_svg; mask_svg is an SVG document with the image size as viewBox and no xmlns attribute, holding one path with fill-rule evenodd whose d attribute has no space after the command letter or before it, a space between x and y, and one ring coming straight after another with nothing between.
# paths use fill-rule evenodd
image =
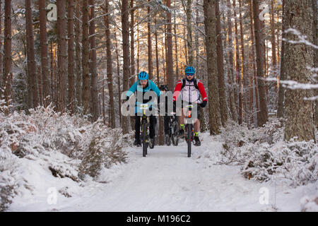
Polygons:
<instances>
[{"instance_id":1,"label":"bright blue jacket worn by the left-hand cyclist","mask_svg":"<svg viewBox=\"0 0 318 226\"><path fill-rule=\"evenodd\" d=\"M131 88L129 88L129 90L127 91L126 95L128 97L130 97L131 95L133 95L133 93L135 92L141 92L142 95L144 95L145 93L147 93L148 91L153 91L155 92L155 94L159 97L161 94L161 91L159 90L158 86L155 85L155 83L153 83L153 81L148 79L148 85L146 88L143 88L140 85L140 81L136 81L136 83L134 83L133 85L131 85ZM138 94L137 94L138 95ZM154 102L151 100L144 100L143 99L143 104L148 103L149 107L154 107L153 104ZM137 102L136 101L136 106L135 106L135 113L137 112L142 112L141 109L139 109L139 105L141 105L141 102Z\"/></svg>"}]
</instances>

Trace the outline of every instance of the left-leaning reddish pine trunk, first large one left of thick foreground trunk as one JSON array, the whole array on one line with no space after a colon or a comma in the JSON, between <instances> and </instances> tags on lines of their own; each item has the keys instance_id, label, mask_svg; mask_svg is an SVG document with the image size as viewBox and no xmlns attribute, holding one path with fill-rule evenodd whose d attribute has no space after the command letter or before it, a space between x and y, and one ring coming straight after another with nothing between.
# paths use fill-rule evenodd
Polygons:
<instances>
[{"instance_id":1,"label":"left-leaning reddish pine trunk, first large one left of thick foreground trunk","mask_svg":"<svg viewBox=\"0 0 318 226\"><path fill-rule=\"evenodd\" d=\"M259 0L253 1L254 33L257 52L257 83L259 88L259 120L258 126L263 126L268 120L266 87L264 82L264 40L261 34L261 21L259 20Z\"/></svg>"}]
</instances>

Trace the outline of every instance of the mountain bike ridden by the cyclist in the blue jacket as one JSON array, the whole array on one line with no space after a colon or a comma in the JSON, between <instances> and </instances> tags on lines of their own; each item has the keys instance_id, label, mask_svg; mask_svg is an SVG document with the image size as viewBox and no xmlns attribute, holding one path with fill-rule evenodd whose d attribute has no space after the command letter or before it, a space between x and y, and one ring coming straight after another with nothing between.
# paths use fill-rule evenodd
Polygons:
<instances>
[{"instance_id":1,"label":"mountain bike ridden by the cyclist in the blue jacket","mask_svg":"<svg viewBox=\"0 0 318 226\"><path fill-rule=\"evenodd\" d=\"M142 145L143 145L143 157L146 157L148 154L147 148L154 148L155 143L149 142L150 136L149 136L149 125L150 125L150 119L146 115L146 110L148 109L147 104L142 104L140 109L143 110L143 116L141 117L141 139L142 139Z\"/></svg>"}]
</instances>

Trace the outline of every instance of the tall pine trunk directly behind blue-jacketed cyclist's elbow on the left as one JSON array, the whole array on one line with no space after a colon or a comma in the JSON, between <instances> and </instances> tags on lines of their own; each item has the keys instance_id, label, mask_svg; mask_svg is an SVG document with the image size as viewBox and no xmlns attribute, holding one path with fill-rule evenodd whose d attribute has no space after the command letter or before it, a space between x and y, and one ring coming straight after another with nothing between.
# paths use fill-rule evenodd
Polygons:
<instances>
[{"instance_id":1,"label":"tall pine trunk directly behind blue-jacketed cyclist's elbow on the left","mask_svg":"<svg viewBox=\"0 0 318 226\"><path fill-rule=\"evenodd\" d=\"M128 0L122 1L122 49L124 58L124 74L123 74L123 90L128 90L129 77L130 77L130 59L129 59L129 2ZM148 30L149 31L149 30ZM148 34L150 35L150 34ZM150 73L149 73L150 74ZM122 130L123 133L128 133L128 119L123 117Z\"/></svg>"}]
</instances>

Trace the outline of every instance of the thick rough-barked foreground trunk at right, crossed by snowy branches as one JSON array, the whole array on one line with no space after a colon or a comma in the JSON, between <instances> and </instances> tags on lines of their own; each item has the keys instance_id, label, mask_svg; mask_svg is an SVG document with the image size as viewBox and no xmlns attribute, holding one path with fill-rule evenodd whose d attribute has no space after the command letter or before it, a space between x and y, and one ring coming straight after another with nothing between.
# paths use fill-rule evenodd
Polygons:
<instances>
[{"instance_id":1,"label":"thick rough-barked foreground trunk at right, crossed by snowy branches","mask_svg":"<svg viewBox=\"0 0 318 226\"><path fill-rule=\"evenodd\" d=\"M313 25L312 0L285 2L285 19L288 28L298 30L312 42ZM306 20L304 20L306 18ZM286 40L298 40L297 35L286 34ZM312 83L312 71L307 66L314 66L314 51L306 44L285 42L285 71L288 80L298 83ZM314 137L314 102L304 100L312 97L313 90L287 89L285 93L285 134L290 141L297 136L298 141L315 140Z\"/></svg>"}]
</instances>

